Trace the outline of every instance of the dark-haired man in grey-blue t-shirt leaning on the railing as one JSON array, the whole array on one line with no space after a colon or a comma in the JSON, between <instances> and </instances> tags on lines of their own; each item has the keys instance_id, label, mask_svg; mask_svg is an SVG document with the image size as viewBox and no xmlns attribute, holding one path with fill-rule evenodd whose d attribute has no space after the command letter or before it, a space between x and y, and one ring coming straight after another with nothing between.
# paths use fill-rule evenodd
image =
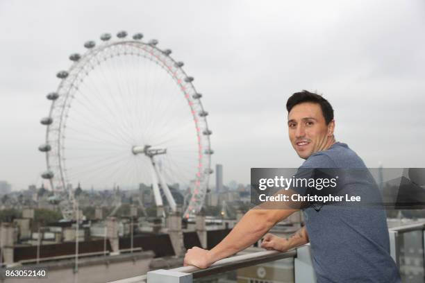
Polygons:
<instances>
[{"instance_id":1,"label":"dark-haired man in grey-blue t-shirt leaning on the railing","mask_svg":"<svg viewBox=\"0 0 425 283\"><path fill-rule=\"evenodd\" d=\"M333 108L326 99L303 91L293 94L286 107L291 144L299 157L306 160L300 169L366 168L347 144L335 141ZM350 181L354 186L361 182ZM297 207L251 209L215 248L188 250L184 264L207 268L264 237L262 247L268 250L285 251L310 241L319 283L401 282L398 268L390 257L383 209L333 205L303 207L306 225L292 237L282 239L266 234L297 210Z\"/></svg>"}]
</instances>

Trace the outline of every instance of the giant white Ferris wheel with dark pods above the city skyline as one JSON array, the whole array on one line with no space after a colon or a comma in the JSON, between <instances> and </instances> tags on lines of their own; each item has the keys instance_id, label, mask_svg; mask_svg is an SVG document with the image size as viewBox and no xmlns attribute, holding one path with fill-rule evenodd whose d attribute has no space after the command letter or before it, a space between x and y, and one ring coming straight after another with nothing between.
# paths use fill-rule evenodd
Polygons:
<instances>
[{"instance_id":1,"label":"giant white Ferris wheel with dark pods above the city skyline","mask_svg":"<svg viewBox=\"0 0 425 283\"><path fill-rule=\"evenodd\" d=\"M101 35L99 45L85 42L87 51L69 56L72 66L56 74L58 88L47 95L42 178L63 199L65 218L72 218L78 183L94 189L151 185L156 205L163 205L162 191L172 210L169 187L190 188L186 218L203 205L213 150L202 95L171 50L142 38L121 31L116 38Z\"/></svg>"}]
</instances>

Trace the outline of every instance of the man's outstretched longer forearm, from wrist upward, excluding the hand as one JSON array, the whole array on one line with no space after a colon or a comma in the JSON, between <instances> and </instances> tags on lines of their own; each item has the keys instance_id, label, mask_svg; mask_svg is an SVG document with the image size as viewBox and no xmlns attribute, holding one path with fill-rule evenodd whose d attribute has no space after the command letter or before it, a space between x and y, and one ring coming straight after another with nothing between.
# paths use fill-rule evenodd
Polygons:
<instances>
[{"instance_id":1,"label":"man's outstretched longer forearm, from wrist upward, excluding the hand","mask_svg":"<svg viewBox=\"0 0 425 283\"><path fill-rule=\"evenodd\" d=\"M215 248L210 250L210 261L234 255L261 239L278 221L297 209L251 209Z\"/></svg>"}]
</instances>

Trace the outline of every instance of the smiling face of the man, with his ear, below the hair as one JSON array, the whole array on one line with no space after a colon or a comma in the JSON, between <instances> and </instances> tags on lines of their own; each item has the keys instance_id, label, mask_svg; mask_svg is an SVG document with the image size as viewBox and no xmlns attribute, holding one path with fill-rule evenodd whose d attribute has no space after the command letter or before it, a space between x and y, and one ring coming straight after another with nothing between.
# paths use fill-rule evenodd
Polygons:
<instances>
[{"instance_id":1,"label":"smiling face of the man, with his ear, below the hair","mask_svg":"<svg viewBox=\"0 0 425 283\"><path fill-rule=\"evenodd\" d=\"M303 159L331 146L334 126L334 121L326 125L322 108L318 103L300 103L288 114L290 141L299 157Z\"/></svg>"}]
</instances>

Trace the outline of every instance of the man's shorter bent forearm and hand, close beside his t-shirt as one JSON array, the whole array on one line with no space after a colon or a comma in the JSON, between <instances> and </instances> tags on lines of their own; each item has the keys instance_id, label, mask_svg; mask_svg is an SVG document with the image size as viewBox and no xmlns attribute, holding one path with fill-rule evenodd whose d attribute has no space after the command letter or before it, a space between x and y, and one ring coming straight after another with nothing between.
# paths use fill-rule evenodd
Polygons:
<instances>
[{"instance_id":1,"label":"man's shorter bent forearm and hand, close beside his t-shirt","mask_svg":"<svg viewBox=\"0 0 425 283\"><path fill-rule=\"evenodd\" d=\"M303 244L308 243L308 241L309 239L306 226L304 226L288 238L277 237L274 234L266 234L263 239L263 243L261 243L261 248L285 252L291 248L302 246Z\"/></svg>"}]
</instances>

